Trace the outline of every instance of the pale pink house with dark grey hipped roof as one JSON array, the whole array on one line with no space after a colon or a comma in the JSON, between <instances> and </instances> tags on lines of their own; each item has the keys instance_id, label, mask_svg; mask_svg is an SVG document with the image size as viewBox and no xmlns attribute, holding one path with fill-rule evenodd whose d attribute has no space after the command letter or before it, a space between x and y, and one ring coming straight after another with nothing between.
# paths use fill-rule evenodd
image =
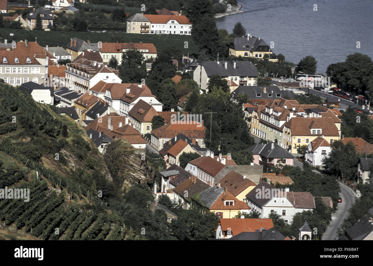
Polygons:
<instances>
[{"instance_id":1,"label":"pale pink house with dark grey hipped roof","mask_svg":"<svg viewBox=\"0 0 373 266\"><path fill-rule=\"evenodd\" d=\"M253 153L254 164L262 164L263 161L267 161L268 164L277 164L279 159L285 160L285 164L293 165L294 156L281 148L280 145L270 142L267 144L257 144L252 146L245 151Z\"/></svg>"}]
</instances>

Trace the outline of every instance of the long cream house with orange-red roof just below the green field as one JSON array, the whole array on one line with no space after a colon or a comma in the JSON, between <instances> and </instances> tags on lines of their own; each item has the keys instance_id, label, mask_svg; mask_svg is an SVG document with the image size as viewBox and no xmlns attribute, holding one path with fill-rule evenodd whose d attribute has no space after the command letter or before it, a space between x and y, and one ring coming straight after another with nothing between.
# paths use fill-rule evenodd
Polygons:
<instances>
[{"instance_id":1,"label":"long cream house with orange-red roof just below the green field","mask_svg":"<svg viewBox=\"0 0 373 266\"><path fill-rule=\"evenodd\" d=\"M144 56L144 60L157 57L157 49L154 44L150 43L118 43L103 42L100 48L100 55L104 64L109 63L111 58L115 58L118 63L122 62L122 55L129 50L138 50Z\"/></svg>"}]
</instances>

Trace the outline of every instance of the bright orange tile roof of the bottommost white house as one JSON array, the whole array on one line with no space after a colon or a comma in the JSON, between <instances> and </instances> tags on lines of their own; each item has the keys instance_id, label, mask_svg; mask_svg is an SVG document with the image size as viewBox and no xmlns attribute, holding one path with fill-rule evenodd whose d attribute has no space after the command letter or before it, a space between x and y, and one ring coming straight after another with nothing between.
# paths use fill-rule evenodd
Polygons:
<instances>
[{"instance_id":1,"label":"bright orange tile roof of the bottommost white house","mask_svg":"<svg viewBox=\"0 0 373 266\"><path fill-rule=\"evenodd\" d=\"M228 228L231 228L232 235L238 235L242 232L256 232L256 230L261 231L261 228L273 228L272 219L220 218L218 225L221 225L223 231L228 231Z\"/></svg>"}]
</instances>

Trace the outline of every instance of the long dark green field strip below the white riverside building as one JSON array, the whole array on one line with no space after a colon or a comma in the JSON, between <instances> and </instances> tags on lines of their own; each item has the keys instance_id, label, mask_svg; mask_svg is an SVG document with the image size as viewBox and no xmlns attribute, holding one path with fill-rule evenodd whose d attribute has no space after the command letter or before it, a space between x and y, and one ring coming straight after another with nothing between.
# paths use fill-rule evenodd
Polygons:
<instances>
[{"instance_id":1,"label":"long dark green field strip below the white riverside building","mask_svg":"<svg viewBox=\"0 0 373 266\"><path fill-rule=\"evenodd\" d=\"M13 36L10 36L13 34ZM91 42L144 42L153 43L157 48L158 53L164 49L175 47L185 51L185 55L189 53L198 54L197 46L195 45L190 35L172 35L172 34L131 34L118 32L71 32L71 31L28 31L22 29L1 29L0 42L7 39L8 42L21 41L36 41L41 46L62 46L66 47L70 42L70 38L79 38L84 41ZM185 42L188 42L188 48L184 48Z\"/></svg>"}]
</instances>

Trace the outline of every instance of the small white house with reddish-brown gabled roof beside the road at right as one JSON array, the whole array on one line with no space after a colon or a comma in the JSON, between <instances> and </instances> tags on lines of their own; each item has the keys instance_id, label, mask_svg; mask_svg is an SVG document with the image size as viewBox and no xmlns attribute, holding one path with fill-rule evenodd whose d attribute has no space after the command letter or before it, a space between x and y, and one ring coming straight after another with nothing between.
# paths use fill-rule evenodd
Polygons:
<instances>
[{"instance_id":1,"label":"small white house with reddish-brown gabled roof beside the road at right","mask_svg":"<svg viewBox=\"0 0 373 266\"><path fill-rule=\"evenodd\" d=\"M313 166L323 165L322 159L324 159L332 149L332 146L326 139L320 136L316 137L316 139L308 144L305 159Z\"/></svg>"}]
</instances>

